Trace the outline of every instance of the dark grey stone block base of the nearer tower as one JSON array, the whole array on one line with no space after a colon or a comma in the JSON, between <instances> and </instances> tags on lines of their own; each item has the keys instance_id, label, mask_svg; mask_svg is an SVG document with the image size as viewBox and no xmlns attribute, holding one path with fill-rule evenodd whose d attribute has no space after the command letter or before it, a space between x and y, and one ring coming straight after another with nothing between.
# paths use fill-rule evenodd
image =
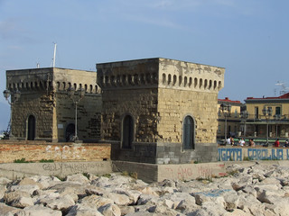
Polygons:
<instances>
[{"instance_id":1,"label":"dark grey stone block base of the nearer tower","mask_svg":"<svg viewBox=\"0 0 289 216\"><path fill-rule=\"evenodd\" d=\"M132 148L120 148L119 142L111 144L112 160L148 164L186 164L217 162L217 143L197 143L195 149L182 150L181 143L133 143Z\"/></svg>"}]
</instances>

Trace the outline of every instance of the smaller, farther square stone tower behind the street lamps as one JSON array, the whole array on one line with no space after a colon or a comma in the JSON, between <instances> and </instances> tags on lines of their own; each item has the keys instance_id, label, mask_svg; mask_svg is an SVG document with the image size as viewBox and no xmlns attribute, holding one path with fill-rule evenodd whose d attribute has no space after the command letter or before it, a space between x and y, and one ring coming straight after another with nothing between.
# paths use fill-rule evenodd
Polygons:
<instances>
[{"instance_id":1,"label":"smaller, farther square stone tower behind the street lamps","mask_svg":"<svg viewBox=\"0 0 289 216\"><path fill-rule=\"evenodd\" d=\"M72 97L78 103L79 139L95 141L100 137L101 94L96 72L58 67L6 71L6 88L21 92L13 105L12 133L17 139L69 141L75 133L75 105L68 89L83 88Z\"/></svg>"}]
</instances>

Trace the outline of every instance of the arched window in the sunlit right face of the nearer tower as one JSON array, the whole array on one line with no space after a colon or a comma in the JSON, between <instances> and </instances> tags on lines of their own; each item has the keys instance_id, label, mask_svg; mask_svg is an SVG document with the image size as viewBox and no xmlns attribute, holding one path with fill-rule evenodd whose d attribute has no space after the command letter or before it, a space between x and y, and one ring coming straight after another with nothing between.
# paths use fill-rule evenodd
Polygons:
<instances>
[{"instance_id":1,"label":"arched window in the sunlit right face of the nearer tower","mask_svg":"<svg viewBox=\"0 0 289 216\"><path fill-rule=\"evenodd\" d=\"M186 116L182 126L182 146L183 149L194 149L195 148L195 125L191 116Z\"/></svg>"}]
</instances>

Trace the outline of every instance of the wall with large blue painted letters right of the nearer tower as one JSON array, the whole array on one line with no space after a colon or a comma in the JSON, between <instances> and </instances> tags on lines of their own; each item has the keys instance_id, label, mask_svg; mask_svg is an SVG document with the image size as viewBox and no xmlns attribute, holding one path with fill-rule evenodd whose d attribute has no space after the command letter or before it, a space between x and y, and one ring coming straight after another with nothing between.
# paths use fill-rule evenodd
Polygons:
<instances>
[{"instance_id":1,"label":"wall with large blue painted letters right of the nearer tower","mask_svg":"<svg viewBox=\"0 0 289 216\"><path fill-rule=\"evenodd\" d=\"M287 148L218 148L219 161L241 161L244 157L251 160L287 160Z\"/></svg>"}]
</instances>

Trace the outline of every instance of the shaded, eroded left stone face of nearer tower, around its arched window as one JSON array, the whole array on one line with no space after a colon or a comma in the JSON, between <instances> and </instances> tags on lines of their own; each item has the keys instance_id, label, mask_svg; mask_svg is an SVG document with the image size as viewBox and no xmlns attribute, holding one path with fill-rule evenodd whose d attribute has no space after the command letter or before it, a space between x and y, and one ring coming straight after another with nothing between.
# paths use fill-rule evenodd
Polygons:
<instances>
[{"instance_id":1,"label":"shaded, eroded left stone face of nearer tower, around its arched window","mask_svg":"<svg viewBox=\"0 0 289 216\"><path fill-rule=\"evenodd\" d=\"M120 140L122 120L130 114L135 121L135 141L154 142L157 94L151 89L111 91L102 95L102 138Z\"/></svg>"}]
</instances>

